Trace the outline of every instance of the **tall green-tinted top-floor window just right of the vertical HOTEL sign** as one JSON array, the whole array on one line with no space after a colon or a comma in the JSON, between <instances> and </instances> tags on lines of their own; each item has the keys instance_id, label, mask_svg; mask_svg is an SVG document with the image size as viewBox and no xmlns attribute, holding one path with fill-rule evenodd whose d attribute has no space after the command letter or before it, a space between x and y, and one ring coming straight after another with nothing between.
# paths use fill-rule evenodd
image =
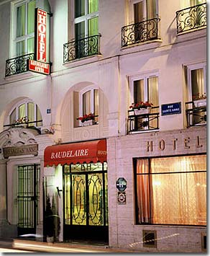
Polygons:
<instances>
[{"instance_id":1,"label":"tall green-tinted top-floor window just right of the vertical HOTEL sign","mask_svg":"<svg viewBox=\"0 0 210 256\"><path fill-rule=\"evenodd\" d=\"M98 0L75 1L75 36L76 40L99 33Z\"/></svg>"}]
</instances>

